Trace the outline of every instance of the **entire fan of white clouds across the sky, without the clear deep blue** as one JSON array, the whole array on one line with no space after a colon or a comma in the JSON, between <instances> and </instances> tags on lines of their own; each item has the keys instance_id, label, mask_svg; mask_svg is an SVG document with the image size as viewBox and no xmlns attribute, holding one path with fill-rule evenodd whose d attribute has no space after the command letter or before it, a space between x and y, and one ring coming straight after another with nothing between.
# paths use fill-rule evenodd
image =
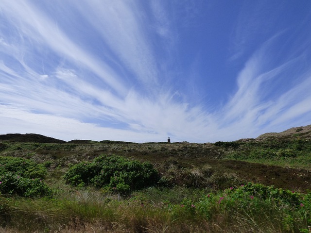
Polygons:
<instances>
[{"instance_id":1,"label":"entire fan of white clouds across the sky, without the clear deep blue","mask_svg":"<svg viewBox=\"0 0 311 233\"><path fill-rule=\"evenodd\" d=\"M40 5L3 0L1 17L16 36L10 41L3 31L0 37L0 51L5 54L0 57L0 122L5 122L1 133L41 133L65 140L146 142L171 136L173 141L213 142L254 137L298 118L308 122L311 76L307 68L301 66L305 75L295 73L295 80L302 83L282 84L287 70L305 58L288 54L282 61L270 59L277 36L245 62L230 99L214 112L195 106L190 93L162 85L160 73L171 78L169 74L177 72L169 67L178 67L174 64L178 53L170 52L177 50L173 37L178 36L172 31L167 9L152 1L153 16L148 17L139 3L57 2L64 9L75 9L76 17L91 26L88 30L100 42L94 52L73 36L79 30L74 28L72 33L58 25L61 21L45 14ZM151 21L155 32L148 28ZM248 36L240 33L239 38ZM156 45L167 42L161 44L167 50L163 54L168 55L164 60L157 60L155 34L161 37ZM88 41L88 35L83 36ZM202 75L196 72L193 76ZM283 89L278 91L275 86L280 84Z\"/></svg>"}]
</instances>

